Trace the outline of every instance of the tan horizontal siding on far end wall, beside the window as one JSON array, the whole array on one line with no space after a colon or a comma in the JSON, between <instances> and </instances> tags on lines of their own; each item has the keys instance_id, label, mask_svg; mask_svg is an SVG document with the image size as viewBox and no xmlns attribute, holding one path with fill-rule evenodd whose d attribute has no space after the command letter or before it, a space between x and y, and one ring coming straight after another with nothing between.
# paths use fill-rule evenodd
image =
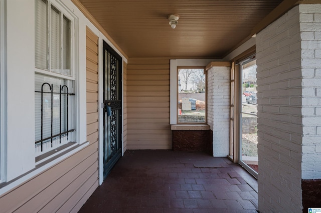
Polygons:
<instances>
[{"instance_id":1,"label":"tan horizontal siding on far end wall, beside the window","mask_svg":"<svg viewBox=\"0 0 321 213\"><path fill-rule=\"evenodd\" d=\"M170 59L129 58L127 149L171 149Z\"/></svg>"}]
</instances>

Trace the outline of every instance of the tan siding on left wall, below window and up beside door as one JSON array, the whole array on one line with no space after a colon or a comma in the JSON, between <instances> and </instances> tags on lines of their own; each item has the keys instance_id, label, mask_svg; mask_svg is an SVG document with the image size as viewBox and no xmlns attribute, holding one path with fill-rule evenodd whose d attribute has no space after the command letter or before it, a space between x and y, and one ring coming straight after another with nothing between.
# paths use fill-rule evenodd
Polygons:
<instances>
[{"instance_id":1,"label":"tan siding on left wall, below window and up beside door","mask_svg":"<svg viewBox=\"0 0 321 213\"><path fill-rule=\"evenodd\" d=\"M98 37L88 29L87 41L89 145L2 194L1 212L77 212L98 187Z\"/></svg>"}]
</instances>

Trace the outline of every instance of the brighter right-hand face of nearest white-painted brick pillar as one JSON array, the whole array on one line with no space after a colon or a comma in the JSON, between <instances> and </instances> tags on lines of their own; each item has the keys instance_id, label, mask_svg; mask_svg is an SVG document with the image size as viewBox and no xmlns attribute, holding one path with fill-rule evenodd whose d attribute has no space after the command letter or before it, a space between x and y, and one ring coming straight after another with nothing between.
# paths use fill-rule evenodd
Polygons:
<instances>
[{"instance_id":1,"label":"brighter right-hand face of nearest white-painted brick pillar","mask_svg":"<svg viewBox=\"0 0 321 213\"><path fill-rule=\"evenodd\" d=\"M302 39L302 179L321 179L321 4L299 7Z\"/></svg>"}]
</instances>

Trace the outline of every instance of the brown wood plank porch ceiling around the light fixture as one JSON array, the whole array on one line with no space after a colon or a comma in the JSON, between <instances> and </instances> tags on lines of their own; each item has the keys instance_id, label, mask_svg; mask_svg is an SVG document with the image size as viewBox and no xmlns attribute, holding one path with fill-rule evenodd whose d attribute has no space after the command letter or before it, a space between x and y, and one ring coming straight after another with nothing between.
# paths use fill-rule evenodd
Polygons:
<instances>
[{"instance_id":1,"label":"brown wood plank porch ceiling around the light fixture","mask_svg":"<svg viewBox=\"0 0 321 213\"><path fill-rule=\"evenodd\" d=\"M129 57L222 58L282 0L79 1Z\"/></svg>"}]
</instances>

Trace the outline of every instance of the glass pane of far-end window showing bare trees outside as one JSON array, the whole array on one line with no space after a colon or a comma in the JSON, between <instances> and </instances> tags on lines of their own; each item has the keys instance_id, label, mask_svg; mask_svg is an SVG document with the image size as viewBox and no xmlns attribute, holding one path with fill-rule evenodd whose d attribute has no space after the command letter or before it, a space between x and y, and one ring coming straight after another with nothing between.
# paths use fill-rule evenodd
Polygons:
<instances>
[{"instance_id":1,"label":"glass pane of far-end window showing bare trees outside","mask_svg":"<svg viewBox=\"0 0 321 213\"><path fill-rule=\"evenodd\" d=\"M206 122L206 88L203 68L179 68L178 123Z\"/></svg>"}]
</instances>

